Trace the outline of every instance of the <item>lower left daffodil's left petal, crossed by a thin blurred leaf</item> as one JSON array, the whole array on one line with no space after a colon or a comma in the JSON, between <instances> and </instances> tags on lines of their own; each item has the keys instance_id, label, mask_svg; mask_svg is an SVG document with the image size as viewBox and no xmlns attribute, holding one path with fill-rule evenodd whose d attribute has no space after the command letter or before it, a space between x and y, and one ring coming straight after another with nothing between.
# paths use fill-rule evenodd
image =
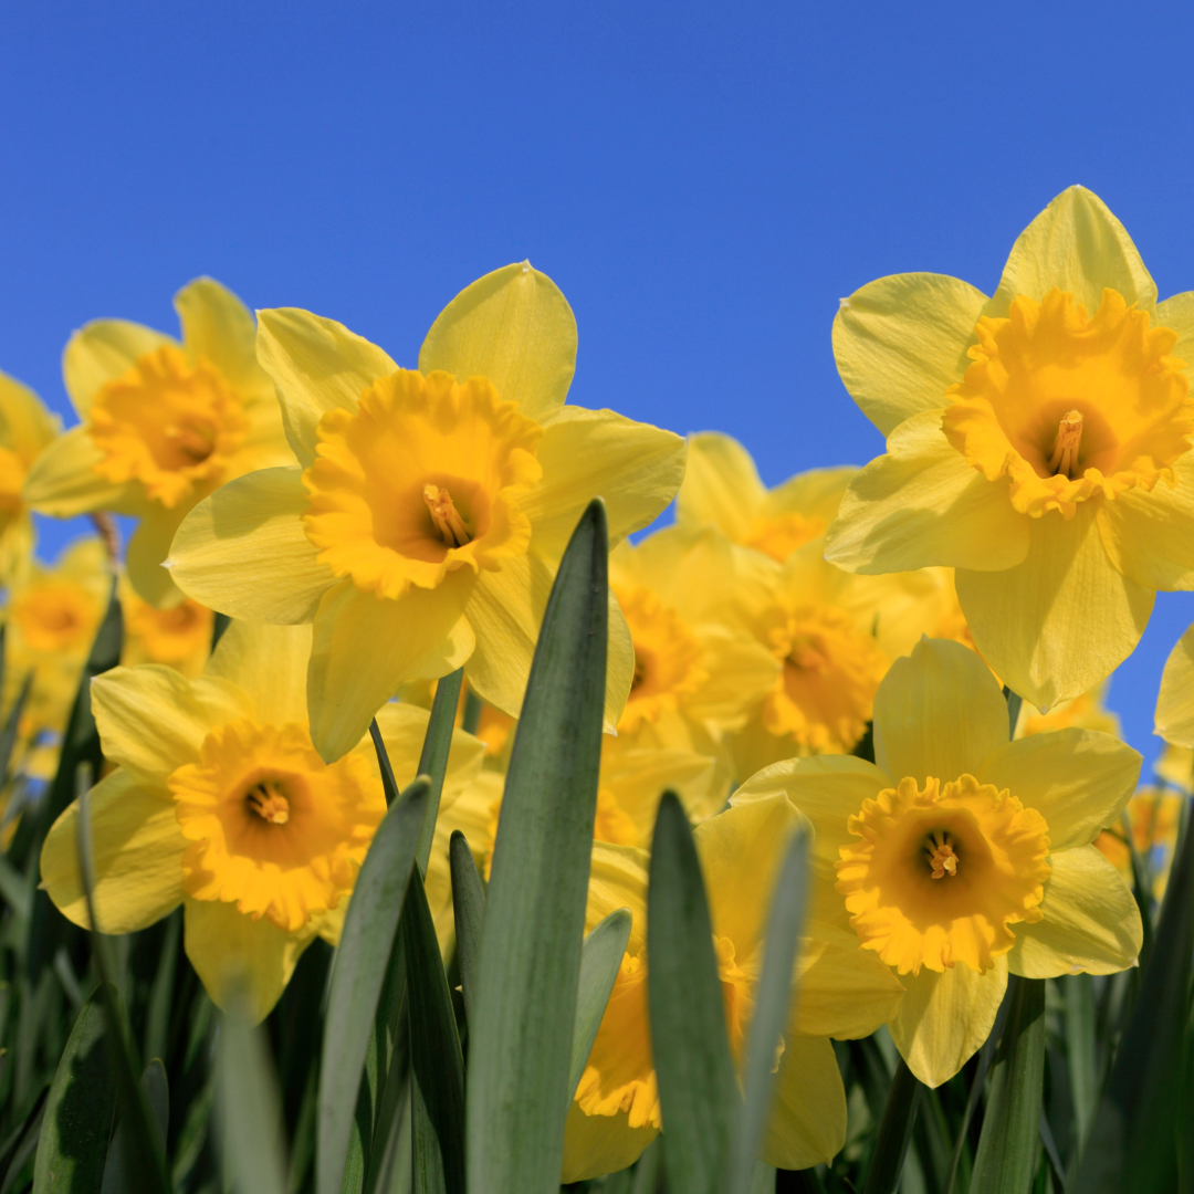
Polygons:
<instances>
[{"instance_id":1,"label":"lower left daffodil's left petal, crossed by a thin blurred leaf","mask_svg":"<svg viewBox=\"0 0 1194 1194\"><path fill-rule=\"evenodd\" d=\"M104 933L136 933L183 899L186 839L165 787L142 784L125 770L100 780L88 796L96 862L96 916ZM87 900L79 872L79 804L54 823L42 847L42 886L55 907L85 929Z\"/></svg>"}]
</instances>

